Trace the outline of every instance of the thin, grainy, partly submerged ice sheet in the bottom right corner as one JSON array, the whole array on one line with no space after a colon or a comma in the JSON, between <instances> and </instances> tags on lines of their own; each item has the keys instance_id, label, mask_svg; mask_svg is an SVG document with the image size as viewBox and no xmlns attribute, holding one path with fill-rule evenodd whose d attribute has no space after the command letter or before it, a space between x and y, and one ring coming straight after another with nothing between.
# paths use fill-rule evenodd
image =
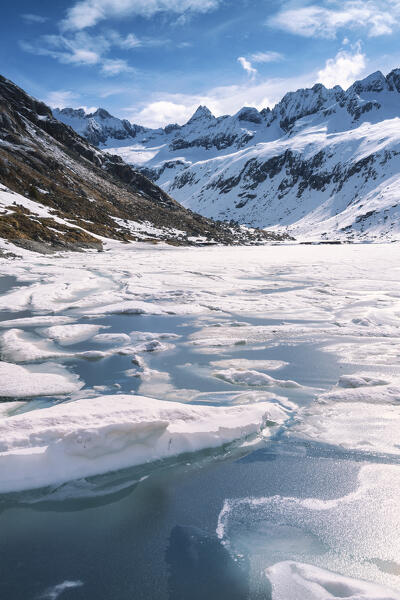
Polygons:
<instances>
[{"instance_id":1,"label":"thin, grainy, partly submerged ice sheet in the bottom right corner","mask_svg":"<svg viewBox=\"0 0 400 600\"><path fill-rule=\"evenodd\" d=\"M361 467L354 491L343 497L226 499L217 534L235 559L248 561L255 586L265 588L260 574L266 568L295 561L399 589L399 492L398 466L370 464ZM331 590L333 598L340 597L339 589L336 595ZM324 593L321 598L331 598ZM397 600L399 595L393 597Z\"/></svg>"}]
</instances>

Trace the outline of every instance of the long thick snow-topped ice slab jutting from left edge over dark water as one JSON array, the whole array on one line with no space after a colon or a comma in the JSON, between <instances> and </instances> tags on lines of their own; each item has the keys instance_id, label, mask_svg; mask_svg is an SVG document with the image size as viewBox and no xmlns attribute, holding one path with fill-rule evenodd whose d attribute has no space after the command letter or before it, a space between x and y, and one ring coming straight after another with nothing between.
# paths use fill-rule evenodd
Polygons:
<instances>
[{"instance_id":1,"label":"long thick snow-topped ice slab jutting from left edge over dark water","mask_svg":"<svg viewBox=\"0 0 400 600\"><path fill-rule=\"evenodd\" d=\"M269 404L192 406L101 396L0 421L0 491L106 473L259 433Z\"/></svg>"}]
</instances>

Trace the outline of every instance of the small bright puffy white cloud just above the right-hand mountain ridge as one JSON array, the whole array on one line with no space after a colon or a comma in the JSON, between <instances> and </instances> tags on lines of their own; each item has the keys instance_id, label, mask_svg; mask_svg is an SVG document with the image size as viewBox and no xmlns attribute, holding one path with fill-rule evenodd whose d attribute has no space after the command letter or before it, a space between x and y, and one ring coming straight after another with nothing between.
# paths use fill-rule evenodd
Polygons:
<instances>
[{"instance_id":1,"label":"small bright puffy white cloud just above the right-hand mountain ridge","mask_svg":"<svg viewBox=\"0 0 400 600\"><path fill-rule=\"evenodd\" d=\"M357 44L353 52L340 50L335 58L329 58L325 67L318 71L318 81L326 87L340 85L347 89L364 71L365 65L365 54L361 52L360 44Z\"/></svg>"}]
</instances>

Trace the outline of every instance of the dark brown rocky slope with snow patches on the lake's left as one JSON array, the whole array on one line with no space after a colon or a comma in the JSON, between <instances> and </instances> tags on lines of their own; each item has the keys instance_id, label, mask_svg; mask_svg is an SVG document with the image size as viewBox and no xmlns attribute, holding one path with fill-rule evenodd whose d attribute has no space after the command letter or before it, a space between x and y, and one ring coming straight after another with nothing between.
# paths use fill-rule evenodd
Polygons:
<instances>
[{"instance_id":1,"label":"dark brown rocky slope with snow patches on the lake's left","mask_svg":"<svg viewBox=\"0 0 400 600\"><path fill-rule=\"evenodd\" d=\"M0 238L43 250L100 248L104 238L237 244L276 236L183 208L0 76Z\"/></svg>"}]
</instances>

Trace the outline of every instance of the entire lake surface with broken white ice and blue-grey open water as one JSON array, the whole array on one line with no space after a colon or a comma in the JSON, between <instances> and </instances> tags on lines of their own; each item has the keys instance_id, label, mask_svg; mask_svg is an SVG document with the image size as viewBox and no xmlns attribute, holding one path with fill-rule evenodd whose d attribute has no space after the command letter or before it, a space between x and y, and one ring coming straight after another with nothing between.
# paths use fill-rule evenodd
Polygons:
<instances>
[{"instance_id":1,"label":"entire lake surface with broken white ice and blue-grey open water","mask_svg":"<svg viewBox=\"0 0 400 600\"><path fill-rule=\"evenodd\" d=\"M399 259L3 260L1 597L398 600Z\"/></svg>"}]
</instances>

